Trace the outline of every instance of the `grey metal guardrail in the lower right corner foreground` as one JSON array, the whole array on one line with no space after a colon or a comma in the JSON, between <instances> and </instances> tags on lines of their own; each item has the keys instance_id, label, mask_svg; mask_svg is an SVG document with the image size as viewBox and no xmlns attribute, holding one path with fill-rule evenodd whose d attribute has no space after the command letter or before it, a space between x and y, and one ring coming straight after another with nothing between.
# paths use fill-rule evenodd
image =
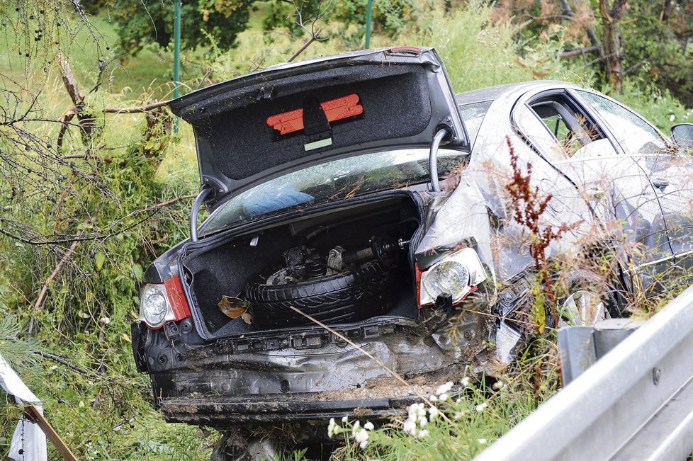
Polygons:
<instances>
[{"instance_id":1,"label":"grey metal guardrail in the lower right corner foreground","mask_svg":"<svg viewBox=\"0 0 693 461\"><path fill-rule=\"evenodd\" d=\"M693 287L474 458L686 460L693 451Z\"/></svg>"}]
</instances>

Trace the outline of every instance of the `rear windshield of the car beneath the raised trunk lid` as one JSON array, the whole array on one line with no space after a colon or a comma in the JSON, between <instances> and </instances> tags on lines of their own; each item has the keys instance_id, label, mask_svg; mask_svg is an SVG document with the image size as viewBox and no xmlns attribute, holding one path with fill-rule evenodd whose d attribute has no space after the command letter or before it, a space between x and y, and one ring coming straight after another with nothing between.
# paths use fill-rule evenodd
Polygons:
<instances>
[{"instance_id":1,"label":"rear windshield of the car beneath the raised trunk lid","mask_svg":"<svg viewBox=\"0 0 693 461\"><path fill-rule=\"evenodd\" d=\"M441 149L438 173L446 178L463 169L468 154ZM375 152L288 173L246 190L220 205L201 228L205 234L278 210L351 198L429 181L429 149Z\"/></svg>"}]
</instances>

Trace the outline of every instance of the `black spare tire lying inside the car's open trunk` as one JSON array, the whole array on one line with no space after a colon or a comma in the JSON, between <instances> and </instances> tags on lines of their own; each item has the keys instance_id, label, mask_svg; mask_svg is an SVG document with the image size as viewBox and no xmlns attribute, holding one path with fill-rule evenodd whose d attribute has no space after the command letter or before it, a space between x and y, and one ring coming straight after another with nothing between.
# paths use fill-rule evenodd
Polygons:
<instances>
[{"instance_id":1,"label":"black spare tire lying inside the car's open trunk","mask_svg":"<svg viewBox=\"0 0 693 461\"><path fill-rule=\"evenodd\" d=\"M393 305L393 275L378 261L345 273L283 285L249 283L245 299L252 324L282 328L313 324L290 306L325 324L347 323L383 314Z\"/></svg>"}]
</instances>

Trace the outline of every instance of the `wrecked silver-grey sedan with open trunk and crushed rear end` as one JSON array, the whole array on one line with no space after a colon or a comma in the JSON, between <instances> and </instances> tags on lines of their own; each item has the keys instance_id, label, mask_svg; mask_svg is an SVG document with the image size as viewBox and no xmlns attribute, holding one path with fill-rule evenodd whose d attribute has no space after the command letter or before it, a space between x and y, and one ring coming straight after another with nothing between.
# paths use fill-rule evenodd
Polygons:
<instances>
[{"instance_id":1,"label":"wrecked silver-grey sedan with open trunk and crushed rear end","mask_svg":"<svg viewBox=\"0 0 693 461\"><path fill-rule=\"evenodd\" d=\"M551 198L541 219L570 224L547 253L618 261L605 285L572 271L561 321L620 315L693 255L687 156L580 86L456 96L435 50L393 47L170 107L193 127L202 187L191 237L147 268L132 330L167 421L251 442L287 423L320 440L330 418L385 419L510 363L534 328L536 268L505 197L509 149Z\"/></svg>"}]
</instances>

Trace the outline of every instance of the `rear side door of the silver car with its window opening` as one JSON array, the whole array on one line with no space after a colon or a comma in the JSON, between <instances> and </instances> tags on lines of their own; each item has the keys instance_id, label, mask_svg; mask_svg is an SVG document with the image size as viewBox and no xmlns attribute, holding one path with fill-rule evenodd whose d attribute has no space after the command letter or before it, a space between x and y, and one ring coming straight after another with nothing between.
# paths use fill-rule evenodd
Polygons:
<instances>
[{"instance_id":1,"label":"rear side door of the silver car with its window opening","mask_svg":"<svg viewBox=\"0 0 693 461\"><path fill-rule=\"evenodd\" d=\"M650 285L672 252L646 174L617 149L601 120L566 89L528 95L524 106L543 126L527 137L575 182L598 219L599 225L589 229L590 239L616 249L623 267L649 268L643 283Z\"/></svg>"}]
</instances>

